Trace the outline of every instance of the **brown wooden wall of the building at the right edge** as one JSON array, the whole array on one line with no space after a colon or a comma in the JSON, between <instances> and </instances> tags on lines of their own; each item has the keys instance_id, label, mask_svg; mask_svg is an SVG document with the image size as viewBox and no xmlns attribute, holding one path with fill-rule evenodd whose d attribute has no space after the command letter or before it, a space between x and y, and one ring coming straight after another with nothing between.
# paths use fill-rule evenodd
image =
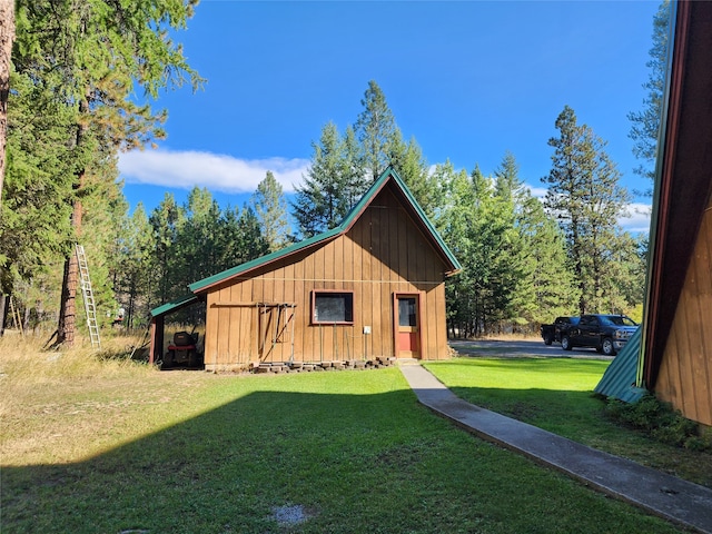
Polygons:
<instances>
[{"instance_id":1,"label":"brown wooden wall of the building at the right edge","mask_svg":"<svg viewBox=\"0 0 712 534\"><path fill-rule=\"evenodd\" d=\"M694 254L655 384L655 393L689 419L712 425L712 199Z\"/></svg>"}]
</instances>

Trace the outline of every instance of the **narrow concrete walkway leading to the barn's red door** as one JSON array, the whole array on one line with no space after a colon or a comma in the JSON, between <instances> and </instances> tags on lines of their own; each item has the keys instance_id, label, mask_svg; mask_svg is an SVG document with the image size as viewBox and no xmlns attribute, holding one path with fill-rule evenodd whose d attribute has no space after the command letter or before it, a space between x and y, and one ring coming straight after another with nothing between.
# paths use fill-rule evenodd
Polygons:
<instances>
[{"instance_id":1,"label":"narrow concrete walkway leading to the barn's red door","mask_svg":"<svg viewBox=\"0 0 712 534\"><path fill-rule=\"evenodd\" d=\"M612 456L456 397L421 365L400 372L418 400L463 428L652 514L712 534L712 490Z\"/></svg>"}]
</instances>

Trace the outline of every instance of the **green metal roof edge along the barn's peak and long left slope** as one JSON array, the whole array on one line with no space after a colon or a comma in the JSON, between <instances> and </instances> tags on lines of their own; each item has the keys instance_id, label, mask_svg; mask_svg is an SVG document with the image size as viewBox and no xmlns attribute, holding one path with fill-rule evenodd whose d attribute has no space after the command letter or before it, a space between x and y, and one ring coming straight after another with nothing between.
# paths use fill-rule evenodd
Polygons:
<instances>
[{"instance_id":1,"label":"green metal roof edge along the barn's peak and long left slope","mask_svg":"<svg viewBox=\"0 0 712 534\"><path fill-rule=\"evenodd\" d=\"M368 205L373 201L376 195L384 188L384 186L388 182L388 180L393 180L400 192L403 194L404 199L409 205L409 207L414 210L417 218L422 222L424 229L429 234L429 236L435 241L436 246L439 248L441 254L443 255L446 263L449 264L451 270L449 275L453 275L459 270L462 270L462 266L457 261L457 258L453 255L453 253L447 248L445 241L441 238L435 227L427 219L425 212L418 206L418 202L415 200L406 185L400 180L400 177L395 171L395 169L388 167L380 177L368 188L366 194L362 197L362 199L352 208L348 215L344 218L340 225L330 230L327 230L323 234L318 234L309 239L305 239L303 241L296 243L287 248L283 248L281 250L274 251L266 256L261 256L259 258L253 259L251 261L247 261L245 264L240 264L230 269L224 270L222 273L218 273L216 275L209 276L201 280L195 281L188 286L188 288L194 293L200 293L214 286L216 284L220 284L221 281L228 280L233 277L239 276L244 273L253 270L258 267L263 267L268 265L277 259L289 256L296 251L304 250L315 245L327 243L330 239L335 239L336 237L346 234L348 229L354 225L354 222L358 219L360 214L368 207Z\"/></svg>"}]
</instances>

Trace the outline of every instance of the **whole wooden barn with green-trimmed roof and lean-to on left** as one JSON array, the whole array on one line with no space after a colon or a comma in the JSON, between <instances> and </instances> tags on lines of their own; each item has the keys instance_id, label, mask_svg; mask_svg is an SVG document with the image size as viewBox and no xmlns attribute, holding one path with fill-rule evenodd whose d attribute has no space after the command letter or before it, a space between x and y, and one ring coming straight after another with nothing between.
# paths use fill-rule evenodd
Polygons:
<instances>
[{"instance_id":1,"label":"whole wooden barn with green-trimmed roof and lean-to on left","mask_svg":"<svg viewBox=\"0 0 712 534\"><path fill-rule=\"evenodd\" d=\"M444 359L445 279L459 270L388 168L336 228L198 280L178 306L205 301L208 370ZM154 310L154 347L162 347L162 314L170 309ZM160 350L151 348L151 356Z\"/></svg>"}]
</instances>

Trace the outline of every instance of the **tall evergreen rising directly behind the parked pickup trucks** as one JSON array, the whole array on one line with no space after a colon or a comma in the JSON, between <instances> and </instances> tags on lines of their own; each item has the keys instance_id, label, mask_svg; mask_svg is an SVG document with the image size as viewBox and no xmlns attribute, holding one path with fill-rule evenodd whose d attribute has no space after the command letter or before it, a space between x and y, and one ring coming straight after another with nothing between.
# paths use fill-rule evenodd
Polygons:
<instances>
[{"instance_id":1,"label":"tall evergreen rising directly behind the parked pickup trucks","mask_svg":"<svg viewBox=\"0 0 712 534\"><path fill-rule=\"evenodd\" d=\"M552 170L542 181L548 186L545 206L564 229L568 257L581 291L582 314L603 310L604 278L630 197L619 185L620 172L603 150L605 142L586 125L578 126L568 106L558 115L560 136Z\"/></svg>"}]
</instances>

